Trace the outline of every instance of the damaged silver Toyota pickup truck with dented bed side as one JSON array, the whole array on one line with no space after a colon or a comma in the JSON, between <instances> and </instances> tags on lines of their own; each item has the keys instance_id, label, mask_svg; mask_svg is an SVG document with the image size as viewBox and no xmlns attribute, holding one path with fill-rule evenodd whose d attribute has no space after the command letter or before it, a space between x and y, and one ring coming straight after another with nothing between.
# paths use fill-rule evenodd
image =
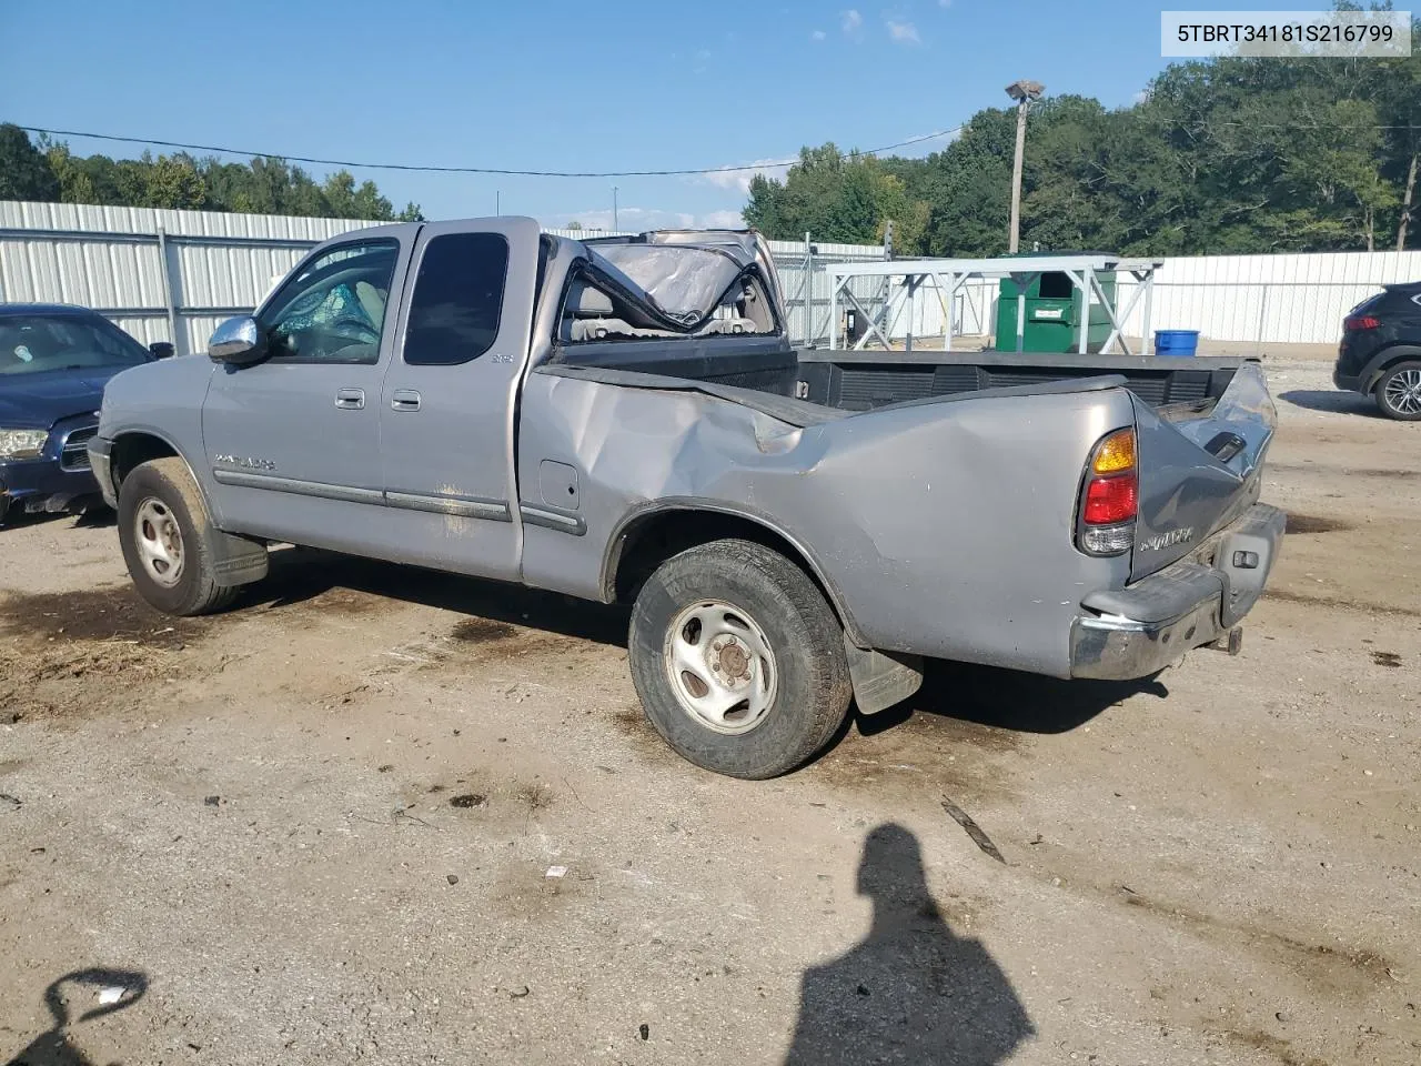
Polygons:
<instances>
[{"instance_id":1,"label":"damaged silver Toyota pickup truck with dented bed side","mask_svg":"<svg viewBox=\"0 0 1421 1066\"><path fill-rule=\"evenodd\" d=\"M1236 651L1283 533L1256 362L796 351L783 306L753 232L358 230L210 358L115 377L90 455L172 614L270 544L632 603L647 716L740 777L905 699L922 657Z\"/></svg>"}]
</instances>

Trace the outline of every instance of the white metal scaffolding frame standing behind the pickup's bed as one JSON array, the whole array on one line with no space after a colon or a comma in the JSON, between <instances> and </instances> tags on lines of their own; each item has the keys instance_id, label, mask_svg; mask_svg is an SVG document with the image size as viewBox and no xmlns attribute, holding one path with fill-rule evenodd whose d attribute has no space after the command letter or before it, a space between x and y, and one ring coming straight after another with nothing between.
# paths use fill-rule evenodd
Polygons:
<instances>
[{"instance_id":1,"label":"white metal scaffolding frame standing behind the pickup's bed","mask_svg":"<svg viewBox=\"0 0 1421 1066\"><path fill-rule=\"evenodd\" d=\"M904 310L908 311L907 351L912 351L912 323L914 304L918 291L932 289L942 306L942 350L952 348L952 300L968 281L1009 277L1016 283L1019 298L1016 301L1016 351L1023 348L1026 334L1026 290L1034 284L1042 274L1066 274L1071 284L1084 294L1081 301L1081 316L1077 325L1077 354L1084 355L1087 337L1090 333L1091 301L1106 308L1110 318L1111 331L1106 338L1100 352L1108 354L1111 345L1120 345L1121 355L1134 355L1130 343L1125 340L1125 324L1134 314L1135 307L1144 301L1140 335L1142 338L1141 355L1150 355L1152 335L1150 331L1150 316L1154 307L1154 274L1164 266L1162 259L1123 259L1118 256L1030 256L1020 259L914 259L884 263L834 263L828 267L833 284L828 290L828 348L838 350L838 304L840 296L847 297L848 304L857 308L864 317L868 328L854 344L854 351L860 351L868 344L870 337L877 337L885 350L892 350L892 331ZM1135 284L1124 307L1118 306L1118 298L1111 300L1100 283L1103 273L1128 273ZM884 300L877 316L870 314L854 296L848 283L855 277L882 277L890 286L890 294ZM894 284L894 279L901 279ZM963 294L966 298L966 294Z\"/></svg>"}]
</instances>

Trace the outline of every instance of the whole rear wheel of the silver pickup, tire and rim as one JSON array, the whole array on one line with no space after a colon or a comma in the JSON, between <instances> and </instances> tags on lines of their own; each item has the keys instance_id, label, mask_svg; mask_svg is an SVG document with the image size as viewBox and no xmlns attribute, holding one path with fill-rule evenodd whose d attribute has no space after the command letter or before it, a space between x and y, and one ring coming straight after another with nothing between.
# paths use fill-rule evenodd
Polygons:
<instances>
[{"instance_id":1,"label":"whole rear wheel of the silver pickup, tire and rim","mask_svg":"<svg viewBox=\"0 0 1421 1066\"><path fill-rule=\"evenodd\" d=\"M784 556L718 540L662 563L631 617L632 682L681 756L732 777L787 773L848 714L843 630Z\"/></svg>"}]
</instances>

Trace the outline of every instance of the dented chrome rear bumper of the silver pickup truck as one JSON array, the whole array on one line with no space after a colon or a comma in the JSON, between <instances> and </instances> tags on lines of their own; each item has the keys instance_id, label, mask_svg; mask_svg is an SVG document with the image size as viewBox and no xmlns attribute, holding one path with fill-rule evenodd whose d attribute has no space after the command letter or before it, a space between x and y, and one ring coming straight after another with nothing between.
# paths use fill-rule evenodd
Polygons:
<instances>
[{"instance_id":1,"label":"dented chrome rear bumper of the silver pickup truck","mask_svg":"<svg viewBox=\"0 0 1421 1066\"><path fill-rule=\"evenodd\" d=\"M1192 559L1087 596L1087 613L1071 624L1071 677L1148 677L1226 634L1263 593L1285 522L1283 512L1256 503Z\"/></svg>"}]
</instances>

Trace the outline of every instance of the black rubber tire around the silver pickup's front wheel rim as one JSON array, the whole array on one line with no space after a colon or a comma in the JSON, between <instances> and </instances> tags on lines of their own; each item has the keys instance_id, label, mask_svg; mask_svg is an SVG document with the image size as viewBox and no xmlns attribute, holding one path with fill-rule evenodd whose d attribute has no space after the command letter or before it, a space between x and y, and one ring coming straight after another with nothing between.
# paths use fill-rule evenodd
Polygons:
<instances>
[{"instance_id":1,"label":"black rubber tire around the silver pickup's front wheel rim","mask_svg":"<svg viewBox=\"0 0 1421 1066\"><path fill-rule=\"evenodd\" d=\"M172 584L158 580L145 563L139 546L139 513L145 505L171 516L176 526L182 566ZM148 529L152 527L149 522ZM202 490L182 459L149 459L124 478L118 490L118 543L138 594L159 611L189 617L212 614L232 604L237 588L219 586L215 580L216 536L217 527L207 515Z\"/></svg>"}]
</instances>

